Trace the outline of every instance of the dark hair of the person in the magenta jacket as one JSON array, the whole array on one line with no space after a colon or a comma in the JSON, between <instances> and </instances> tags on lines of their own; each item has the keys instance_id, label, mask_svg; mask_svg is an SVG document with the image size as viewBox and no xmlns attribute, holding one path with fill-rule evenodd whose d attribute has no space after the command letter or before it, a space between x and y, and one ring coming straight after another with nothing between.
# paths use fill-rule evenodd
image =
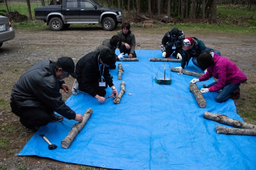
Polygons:
<instances>
[{"instance_id":1,"label":"dark hair of the person in the magenta jacket","mask_svg":"<svg viewBox=\"0 0 256 170\"><path fill-rule=\"evenodd\" d=\"M201 70L204 71L207 68L209 68L211 65L213 65L214 61L210 52L207 51L207 52L201 53L197 57L197 63L200 66Z\"/></svg>"}]
</instances>

